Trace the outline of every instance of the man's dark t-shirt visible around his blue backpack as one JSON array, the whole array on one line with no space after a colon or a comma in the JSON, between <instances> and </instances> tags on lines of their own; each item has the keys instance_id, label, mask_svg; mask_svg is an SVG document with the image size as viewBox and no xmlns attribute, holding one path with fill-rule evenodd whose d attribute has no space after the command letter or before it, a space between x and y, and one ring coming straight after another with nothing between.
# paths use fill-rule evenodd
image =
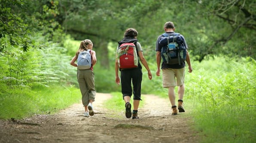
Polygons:
<instances>
[{"instance_id":1,"label":"man's dark t-shirt visible around his blue backpack","mask_svg":"<svg viewBox=\"0 0 256 143\"><path fill-rule=\"evenodd\" d=\"M165 33L168 34L168 35L171 35L171 34L174 34L175 32L165 32ZM181 35L181 34L179 34L179 35ZM181 35L181 36L183 36L183 35ZM162 38L162 37L163 37L162 35L158 36L157 41L156 41L155 51L161 52L162 47L159 44L159 39ZM183 38L184 38L184 36L183 36ZM185 41L185 38L184 38L184 43L185 43L186 49L188 49L188 46L187 46L186 41ZM161 69L166 69L166 68L181 69L181 68L183 68L185 66L186 66L185 61L183 61L180 65L179 64L166 64L166 63L162 62Z\"/></svg>"}]
</instances>

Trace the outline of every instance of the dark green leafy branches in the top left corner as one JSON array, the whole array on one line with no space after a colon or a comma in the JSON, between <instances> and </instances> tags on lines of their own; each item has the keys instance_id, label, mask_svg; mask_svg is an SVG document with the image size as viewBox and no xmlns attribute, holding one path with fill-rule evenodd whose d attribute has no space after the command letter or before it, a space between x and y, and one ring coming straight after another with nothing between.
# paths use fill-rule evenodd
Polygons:
<instances>
[{"instance_id":1,"label":"dark green leafy branches in the top left corner","mask_svg":"<svg viewBox=\"0 0 256 143\"><path fill-rule=\"evenodd\" d=\"M0 52L6 47L21 47L27 51L32 41L27 35L27 24L13 12L13 8L20 9L23 2L18 0L4 0L0 4Z\"/></svg>"}]
</instances>

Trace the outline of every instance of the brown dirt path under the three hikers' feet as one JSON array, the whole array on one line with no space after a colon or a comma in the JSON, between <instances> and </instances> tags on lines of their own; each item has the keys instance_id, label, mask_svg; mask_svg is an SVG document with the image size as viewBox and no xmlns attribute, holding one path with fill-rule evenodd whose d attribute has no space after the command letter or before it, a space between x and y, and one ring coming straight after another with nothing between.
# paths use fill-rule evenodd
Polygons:
<instances>
[{"instance_id":1,"label":"brown dirt path under the three hikers' feet","mask_svg":"<svg viewBox=\"0 0 256 143\"><path fill-rule=\"evenodd\" d=\"M92 117L82 116L80 103L54 115L0 120L0 143L197 143L187 112L172 116L168 100L142 96L137 120L104 108L101 103L111 97L105 93L97 93Z\"/></svg>"}]
</instances>

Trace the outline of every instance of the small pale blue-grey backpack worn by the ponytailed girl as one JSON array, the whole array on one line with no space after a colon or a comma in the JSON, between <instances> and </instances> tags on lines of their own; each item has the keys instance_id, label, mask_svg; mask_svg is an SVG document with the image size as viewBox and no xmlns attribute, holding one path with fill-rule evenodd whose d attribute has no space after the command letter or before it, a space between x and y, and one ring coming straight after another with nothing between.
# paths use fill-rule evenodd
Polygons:
<instances>
[{"instance_id":1,"label":"small pale blue-grey backpack worn by the ponytailed girl","mask_svg":"<svg viewBox=\"0 0 256 143\"><path fill-rule=\"evenodd\" d=\"M91 68L91 50L79 52L77 57L77 68L79 70L87 70Z\"/></svg>"}]
</instances>

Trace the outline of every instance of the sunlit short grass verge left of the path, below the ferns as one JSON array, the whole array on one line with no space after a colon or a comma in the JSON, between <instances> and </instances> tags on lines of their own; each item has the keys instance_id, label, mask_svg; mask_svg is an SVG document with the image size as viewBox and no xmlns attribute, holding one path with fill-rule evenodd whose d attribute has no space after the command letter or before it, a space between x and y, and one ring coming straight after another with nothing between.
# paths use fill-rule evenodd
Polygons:
<instances>
[{"instance_id":1,"label":"sunlit short grass verge left of the path, below the ferns","mask_svg":"<svg viewBox=\"0 0 256 143\"><path fill-rule=\"evenodd\" d=\"M0 119L22 119L33 114L53 114L81 98L80 91L60 85L35 87L32 90L12 90L0 97Z\"/></svg>"}]
</instances>

